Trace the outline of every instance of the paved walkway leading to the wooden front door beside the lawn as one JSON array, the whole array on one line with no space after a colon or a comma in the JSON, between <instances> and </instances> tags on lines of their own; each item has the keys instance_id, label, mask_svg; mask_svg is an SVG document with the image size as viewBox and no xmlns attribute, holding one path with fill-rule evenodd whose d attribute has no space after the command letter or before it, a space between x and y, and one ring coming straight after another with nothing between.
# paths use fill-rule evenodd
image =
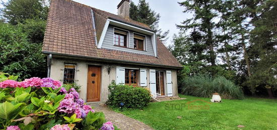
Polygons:
<instances>
[{"instance_id":1,"label":"paved walkway leading to the wooden front door beside the lawn","mask_svg":"<svg viewBox=\"0 0 277 130\"><path fill-rule=\"evenodd\" d=\"M91 104L91 105L95 107L94 108L95 111L104 112L105 118L108 121L111 121L114 125L116 125L117 128L120 128L122 130L124 130L124 129L139 129L139 130L153 129L141 121L127 117L121 113L114 112L104 105L94 105L94 104Z\"/></svg>"}]
</instances>

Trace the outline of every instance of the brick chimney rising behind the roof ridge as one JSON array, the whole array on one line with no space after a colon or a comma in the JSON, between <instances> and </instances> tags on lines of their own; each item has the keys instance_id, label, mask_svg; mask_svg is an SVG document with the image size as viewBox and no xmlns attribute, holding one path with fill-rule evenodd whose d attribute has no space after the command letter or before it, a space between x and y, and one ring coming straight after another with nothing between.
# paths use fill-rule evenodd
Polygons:
<instances>
[{"instance_id":1,"label":"brick chimney rising behind the roof ridge","mask_svg":"<svg viewBox=\"0 0 277 130\"><path fill-rule=\"evenodd\" d=\"M130 6L129 6L130 0L122 0L118 6L117 6L117 13L118 16L124 18L124 19L129 19L130 16Z\"/></svg>"}]
</instances>

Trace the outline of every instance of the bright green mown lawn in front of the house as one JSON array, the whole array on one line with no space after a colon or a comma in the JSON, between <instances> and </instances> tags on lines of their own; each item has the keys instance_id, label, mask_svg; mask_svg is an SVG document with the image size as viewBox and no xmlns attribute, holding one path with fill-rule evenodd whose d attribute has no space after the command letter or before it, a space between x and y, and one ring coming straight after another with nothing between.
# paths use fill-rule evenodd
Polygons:
<instances>
[{"instance_id":1,"label":"bright green mown lawn in front of the house","mask_svg":"<svg viewBox=\"0 0 277 130\"><path fill-rule=\"evenodd\" d=\"M186 100L152 102L143 110L127 109L121 113L140 120L155 129L277 129L277 100L246 97L243 100L223 99L210 104L210 109L188 109L188 101L201 98L179 95ZM182 109L181 104L185 104ZM201 101L193 105L204 105ZM174 106L173 109L169 106ZM179 108L179 109L178 109ZM181 116L179 119L177 116Z\"/></svg>"}]
</instances>

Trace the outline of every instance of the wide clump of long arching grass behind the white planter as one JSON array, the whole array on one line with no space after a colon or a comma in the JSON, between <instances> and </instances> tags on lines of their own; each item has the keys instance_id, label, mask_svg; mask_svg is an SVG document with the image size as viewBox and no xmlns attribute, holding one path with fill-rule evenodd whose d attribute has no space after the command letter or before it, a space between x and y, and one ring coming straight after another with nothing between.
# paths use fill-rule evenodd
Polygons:
<instances>
[{"instance_id":1,"label":"wide clump of long arching grass behind the white planter","mask_svg":"<svg viewBox=\"0 0 277 130\"><path fill-rule=\"evenodd\" d=\"M244 98L241 87L222 76L197 75L183 79L180 84L181 93L186 95L211 97L217 92L225 99Z\"/></svg>"}]
</instances>

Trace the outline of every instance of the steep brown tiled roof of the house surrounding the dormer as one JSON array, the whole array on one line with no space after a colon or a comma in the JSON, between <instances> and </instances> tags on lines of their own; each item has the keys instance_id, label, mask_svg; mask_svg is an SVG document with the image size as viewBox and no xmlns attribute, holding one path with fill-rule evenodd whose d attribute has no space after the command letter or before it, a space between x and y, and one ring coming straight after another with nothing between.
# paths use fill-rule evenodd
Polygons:
<instances>
[{"instance_id":1,"label":"steep brown tiled roof of the house surrounding the dormer","mask_svg":"<svg viewBox=\"0 0 277 130\"><path fill-rule=\"evenodd\" d=\"M94 13L96 24L93 23L91 9L96 12ZM159 39L157 39L158 58L149 55L97 48L93 24L95 24L96 34L101 35L101 33L98 33L98 31L102 32L104 28L104 25L101 23L105 24L104 20L108 17L117 19L118 16L70 0L52 0L42 52L91 59L126 61L175 68L181 67L179 62ZM122 20L122 18L118 19ZM125 22L149 28L144 24L138 24L138 22Z\"/></svg>"}]
</instances>

